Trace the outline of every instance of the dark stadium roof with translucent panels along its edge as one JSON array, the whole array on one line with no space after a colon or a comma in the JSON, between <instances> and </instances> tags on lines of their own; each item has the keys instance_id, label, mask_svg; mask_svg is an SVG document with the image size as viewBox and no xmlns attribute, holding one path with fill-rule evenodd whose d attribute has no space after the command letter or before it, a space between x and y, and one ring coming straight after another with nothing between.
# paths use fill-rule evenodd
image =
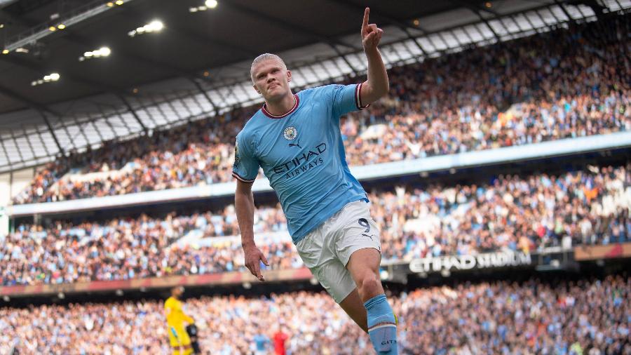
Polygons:
<instances>
[{"instance_id":1,"label":"dark stadium roof with translucent panels along its edge","mask_svg":"<svg viewBox=\"0 0 631 355\"><path fill-rule=\"evenodd\" d=\"M386 29L388 65L631 8L630 0L217 1L0 0L9 51L0 55L0 172L256 102L248 72L259 53L283 56L299 87L361 74L365 6ZM147 33L153 20L160 33ZM103 46L111 54L97 58Z\"/></svg>"}]
</instances>

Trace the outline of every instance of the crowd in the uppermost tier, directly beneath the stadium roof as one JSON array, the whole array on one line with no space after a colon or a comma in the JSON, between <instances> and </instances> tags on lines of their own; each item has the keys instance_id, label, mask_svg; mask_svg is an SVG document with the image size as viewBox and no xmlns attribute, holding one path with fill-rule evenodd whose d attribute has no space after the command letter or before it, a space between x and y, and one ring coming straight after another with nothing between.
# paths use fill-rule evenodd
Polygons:
<instances>
[{"instance_id":1,"label":"crowd in the uppermost tier, directly beneath the stadium roof","mask_svg":"<svg viewBox=\"0 0 631 355\"><path fill-rule=\"evenodd\" d=\"M394 67L390 95L341 121L349 163L416 159L628 130L628 19L629 15L621 15L606 23L572 25ZM234 138L258 108L236 109L62 158L39 170L13 203L229 181ZM69 171L79 175L67 175ZM102 174L83 176L93 172Z\"/></svg>"}]
</instances>

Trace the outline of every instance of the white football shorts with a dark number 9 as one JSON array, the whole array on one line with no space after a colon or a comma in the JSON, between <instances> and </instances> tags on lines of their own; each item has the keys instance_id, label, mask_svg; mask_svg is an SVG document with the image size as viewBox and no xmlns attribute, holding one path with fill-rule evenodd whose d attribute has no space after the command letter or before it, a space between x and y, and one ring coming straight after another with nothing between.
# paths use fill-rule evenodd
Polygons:
<instances>
[{"instance_id":1,"label":"white football shorts with a dark number 9","mask_svg":"<svg viewBox=\"0 0 631 355\"><path fill-rule=\"evenodd\" d=\"M379 229L365 201L347 203L296 247L305 266L337 303L357 287L346 269L351 254L365 248L381 253Z\"/></svg>"}]
</instances>

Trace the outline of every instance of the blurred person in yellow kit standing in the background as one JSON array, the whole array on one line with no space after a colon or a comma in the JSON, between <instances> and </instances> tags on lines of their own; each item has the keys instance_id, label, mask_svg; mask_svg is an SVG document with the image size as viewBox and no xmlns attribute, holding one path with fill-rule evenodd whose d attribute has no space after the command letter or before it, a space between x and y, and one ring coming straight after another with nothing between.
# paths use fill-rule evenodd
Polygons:
<instances>
[{"instance_id":1,"label":"blurred person in yellow kit standing in the background","mask_svg":"<svg viewBox=\"0 0 631 355\"><path fill-rule=\"evenodd\" d=\"M164 302L164 314L167 320L169 341L173 349L173 355L189 355L193 353L191 338L186 333L184 323L193 324L194 319L187 316L182 310L182 297L184 287L177 286L171 289L171 297Z\"/></svg>"}]
</instances>

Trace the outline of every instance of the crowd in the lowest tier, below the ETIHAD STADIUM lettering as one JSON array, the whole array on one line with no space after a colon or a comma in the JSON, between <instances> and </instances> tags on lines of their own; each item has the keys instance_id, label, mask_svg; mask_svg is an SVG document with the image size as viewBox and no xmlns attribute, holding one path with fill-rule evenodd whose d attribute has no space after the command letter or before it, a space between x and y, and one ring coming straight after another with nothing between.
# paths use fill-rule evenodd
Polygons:
<instances>
[{"instance_id":1,"label":"crowd in the lowest tier, below the ETIHAD STADIUM lettering","mask_svg":"<svg viewBox=\"0 0 631 355\"><path fill-rule=\"evenodd\" d=\"M390 297L400 354L631 354L631 278L461 283ZM203 354L374 354L325 293L189 299ZM0 353L170 354L163 302L0 309ZM266 349L257 351L257 342Z\"/></svg>"}]
</instances>

